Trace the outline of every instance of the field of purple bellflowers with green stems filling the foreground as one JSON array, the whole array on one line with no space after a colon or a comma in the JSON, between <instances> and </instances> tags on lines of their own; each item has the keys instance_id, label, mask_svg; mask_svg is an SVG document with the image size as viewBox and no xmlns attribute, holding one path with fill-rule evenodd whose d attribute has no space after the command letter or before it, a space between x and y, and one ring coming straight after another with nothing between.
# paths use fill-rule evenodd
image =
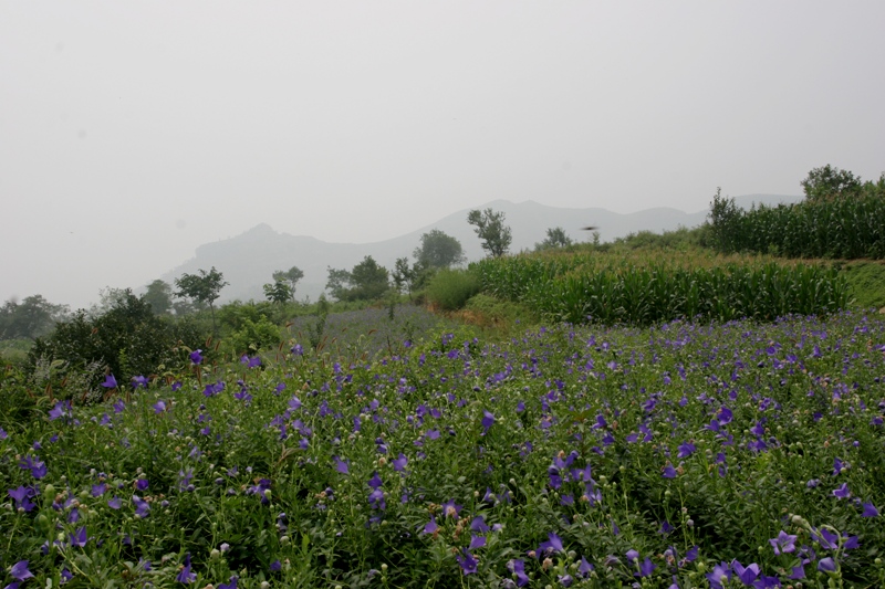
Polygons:
<instances>
[{"instance_id":1,"label":"field of purple bellflowers with green stems filling the foreground","mask_svg":"<svg viewBox=\"0 0 885 589\"><path fill-rule=\"evenodd\" d=\"M885 586L882 318L478 334L0 416L0 581Z\"/></svg>"}]
</instances>

